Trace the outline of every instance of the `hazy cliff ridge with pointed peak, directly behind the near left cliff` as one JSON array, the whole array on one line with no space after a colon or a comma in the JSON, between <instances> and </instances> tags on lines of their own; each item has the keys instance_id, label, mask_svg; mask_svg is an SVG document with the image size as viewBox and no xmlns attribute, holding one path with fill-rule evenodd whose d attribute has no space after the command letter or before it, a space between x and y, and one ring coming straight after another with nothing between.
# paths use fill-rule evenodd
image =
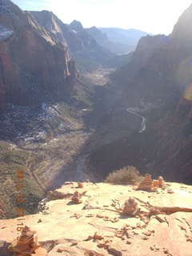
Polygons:
<instances>
[{"instance_id":1,"label":"hazy cliff ridge with pointed peak, directly behind the near left cliff","mask_svg":"<svg viewBox=\"0 0 192 256\"><path fill-rule=\"evenodd\" d=\"M50 32L54 40L67 44L79 70L83 67L86 70L87 63L90 65L91 62L94 62L92 65L97 68L115 56L110 50L100 46L78 21L66 25L52 12L46 10L31 11L30 14Z\"/></svg>"}]
</instances>

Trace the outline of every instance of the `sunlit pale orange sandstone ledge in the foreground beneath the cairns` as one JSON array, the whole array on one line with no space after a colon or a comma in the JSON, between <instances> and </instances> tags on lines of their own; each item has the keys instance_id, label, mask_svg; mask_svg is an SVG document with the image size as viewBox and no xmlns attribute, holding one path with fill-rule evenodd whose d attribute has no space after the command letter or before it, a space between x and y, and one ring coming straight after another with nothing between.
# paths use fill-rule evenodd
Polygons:
<instances>
[{"instance_id":1,"label":"sunlit pale orange sandstone ledge in the foreground beneath the cairns","mask_svg":"<svg viewBox=\"0 0 192 256\"><path fill-rule=\"evenodd\" d=\"M50 195L50 201L39 204L38 214L20 221L1 220L0 239L17 238L17 224L23 222L37 231L38 242L49 256L191 255L192 186L166 183L166 189L154 192L105 183L83 182L82 186L66 182L54 193L62 199ZM82 203L71 202L77 190ZM122 212L130 197L140 208L135 217Z\"/></svg>"}]
</instances>

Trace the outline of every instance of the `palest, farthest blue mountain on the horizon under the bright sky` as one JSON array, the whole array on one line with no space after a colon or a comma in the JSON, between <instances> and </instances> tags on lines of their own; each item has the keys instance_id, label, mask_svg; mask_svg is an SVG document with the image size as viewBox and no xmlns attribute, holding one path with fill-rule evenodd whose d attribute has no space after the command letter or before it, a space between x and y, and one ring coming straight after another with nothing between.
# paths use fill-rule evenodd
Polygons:
<instances>
[{"instance_id":1,"label":"palest, farthest blue mountain on the horizon under the bright sky","mask_svg":"<svg viewBox=\"0 0 192 256\"><path fill-rule=\"evenodd\" d=\"M134 47L137 46L140 38L149 34L141 30L124 30L116 27L99 27L98 29L105 33L110 41Z\"/></svg>"}]
</instances>

